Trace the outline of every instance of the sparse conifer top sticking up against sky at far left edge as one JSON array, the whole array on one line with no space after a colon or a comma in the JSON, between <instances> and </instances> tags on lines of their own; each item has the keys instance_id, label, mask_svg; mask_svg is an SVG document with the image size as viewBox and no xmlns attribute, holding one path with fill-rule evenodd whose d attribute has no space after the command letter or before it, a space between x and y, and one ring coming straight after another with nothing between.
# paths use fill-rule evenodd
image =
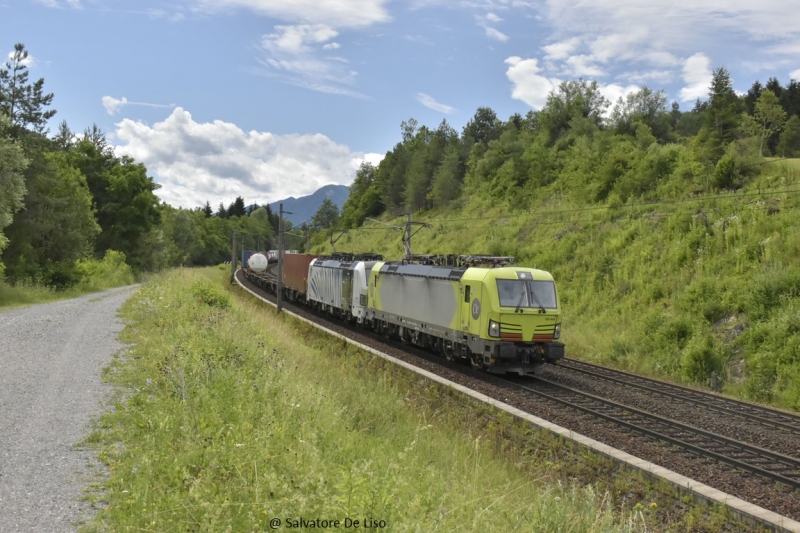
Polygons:
<instances>
[{"instance_id":1,"label":"sparse conifer top sticking up against sky at far left edge","mask_svg":"<svg viewBox=\"0 0 800 533\"><path fill-rule=\"evenodd\" d=\"M25 45L17 43L11 58L0 69L0 112L19 129L43 133L47 121L56 114L55 109L44 110L52 104L53 93L44 93L44 78L28 82L27 59Z\"/></svg>"}]
</instances>

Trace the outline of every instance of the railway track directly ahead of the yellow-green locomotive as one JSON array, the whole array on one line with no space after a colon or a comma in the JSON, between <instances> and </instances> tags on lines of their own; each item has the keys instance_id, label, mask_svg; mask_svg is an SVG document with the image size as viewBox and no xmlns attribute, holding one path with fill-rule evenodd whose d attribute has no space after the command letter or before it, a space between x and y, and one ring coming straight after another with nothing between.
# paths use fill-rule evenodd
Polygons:
<instances>
[{"instance_id":1,"label":"railway track directly ahead of the yellow-green locomotive","mask_svg":"<svg viewBox=\"0 0 800 533\"><path fill-rule=\"evenodd\" d=\"M794 457L704 431L546 379L537 377L536 387L523 385L517 381L507 381L546 400L578 409L700 457L716 460L735 469L782 483L792 490L800 489L800 460Z\"/></svg>"}]
</instances>

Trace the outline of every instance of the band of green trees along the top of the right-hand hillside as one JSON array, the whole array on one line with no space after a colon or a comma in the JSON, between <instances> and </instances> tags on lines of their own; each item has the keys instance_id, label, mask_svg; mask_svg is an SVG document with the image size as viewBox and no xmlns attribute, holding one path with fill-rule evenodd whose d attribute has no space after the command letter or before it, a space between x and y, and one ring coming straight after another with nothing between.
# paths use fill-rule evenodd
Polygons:
<instances>
[{"instance_id":1,"label":"band of green trees along the top of the right-hand hillside","mask_svg":"<svg viewBox=\"0 0 800 533\"><path fill-rule=\"evenodd\" d=\"M481 107L460 134L446 120L430 129L412 118L400 130L377 166L357 171L343 227L476 194L524 208L553 188L589 203L737 188L764 156L800 157L800 83L770 78L739 96L720 67L708 98L683 111L649 87L612 105L597 82L579 79L525 116L502 121Z\"/></svg>"}]
</instances>

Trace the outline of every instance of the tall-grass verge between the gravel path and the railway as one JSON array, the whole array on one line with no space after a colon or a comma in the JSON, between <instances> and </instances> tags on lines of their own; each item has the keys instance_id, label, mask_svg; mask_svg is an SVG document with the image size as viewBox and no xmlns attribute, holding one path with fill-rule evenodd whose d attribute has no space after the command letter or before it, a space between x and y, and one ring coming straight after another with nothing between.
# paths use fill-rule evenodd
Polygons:
<instances>
[{"instance_id":1,"label":"tall-grass verge between the gravel path and the railway","mask_svg":"<svg viewBox=\"0 0 800 533\"><path fill-rule=\"evenodd\" d=\"M287 518L383 520L388 531L725 521L675 512L670 495L607 460L277 316L226 278L173 271L125 304L134 344L108 369L119 395L87 439L109 475L90 495L100 511L86 531L265 531L275 518L281 529Z\"/></svg>"}]
</instances>

